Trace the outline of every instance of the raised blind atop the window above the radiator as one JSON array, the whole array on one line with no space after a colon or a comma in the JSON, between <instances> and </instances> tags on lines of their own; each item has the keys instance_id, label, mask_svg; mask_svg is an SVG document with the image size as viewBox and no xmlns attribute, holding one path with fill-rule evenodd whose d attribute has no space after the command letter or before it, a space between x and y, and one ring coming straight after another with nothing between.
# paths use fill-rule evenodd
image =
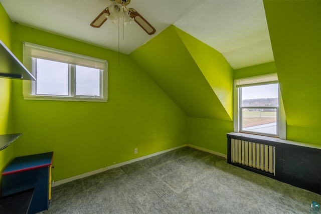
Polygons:
<instances>
[{"instance_id":1,"label":"raised blind atop the window above the radiator","mask_svg":"<svg viewBox=\"0 0 321 214\"><path fill-rule=\"evenodd\" d=\"M235 80L236 88L274 83L278 83L276 73Z\"/></svg>"}]
</instances>

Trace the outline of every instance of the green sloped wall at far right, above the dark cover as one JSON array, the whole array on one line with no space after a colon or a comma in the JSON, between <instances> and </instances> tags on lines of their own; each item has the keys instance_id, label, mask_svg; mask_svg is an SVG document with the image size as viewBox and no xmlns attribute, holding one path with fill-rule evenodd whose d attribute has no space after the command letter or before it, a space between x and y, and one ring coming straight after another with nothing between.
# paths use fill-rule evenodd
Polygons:
<instances>
[{"instance_id":1,"label":"green sloped wall at far right, above the dark cover","mask_svg":"<svg viewBox=\"0 0 321 214\"><path fill-rule=\"evenodd\" d=\"M264 1L287 139L321 144L321 1Z\"/></svg>"}]
</instances>

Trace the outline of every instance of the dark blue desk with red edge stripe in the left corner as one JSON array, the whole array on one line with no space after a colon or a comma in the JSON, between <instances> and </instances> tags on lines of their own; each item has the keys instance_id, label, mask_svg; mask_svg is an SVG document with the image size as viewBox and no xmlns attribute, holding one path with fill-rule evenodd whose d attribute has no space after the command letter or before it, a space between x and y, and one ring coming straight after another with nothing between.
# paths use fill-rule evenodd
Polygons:
<instances>
[{"instance_id":1,"label":"dark blue desk with red edge stripe in the left corner","mask_svg":"<svg viewBox=\"0 0 321 214\"><path fill-rule=\"evenodd\" d=\"M2 172L2 196L35 188L28 213L49 208L53 152L16 157Z\"/></svg>"}]
</instances>

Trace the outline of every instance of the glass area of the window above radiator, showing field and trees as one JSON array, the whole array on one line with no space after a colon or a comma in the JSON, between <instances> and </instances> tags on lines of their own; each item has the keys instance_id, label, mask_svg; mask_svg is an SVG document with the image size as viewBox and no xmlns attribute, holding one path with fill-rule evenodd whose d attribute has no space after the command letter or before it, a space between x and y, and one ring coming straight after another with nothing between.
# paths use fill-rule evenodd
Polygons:
<instances>
[{"instance_id":1,"label":"glass area of the window above radiator, showing field and trees","mask_svg":"<svg viewBox=\"0 0 321 214\"><path fill-rule=\"evenodd\" d=\"M240 91L242 131L278 135L278 84L242 87Z\"/></svg>"}]
</instances>

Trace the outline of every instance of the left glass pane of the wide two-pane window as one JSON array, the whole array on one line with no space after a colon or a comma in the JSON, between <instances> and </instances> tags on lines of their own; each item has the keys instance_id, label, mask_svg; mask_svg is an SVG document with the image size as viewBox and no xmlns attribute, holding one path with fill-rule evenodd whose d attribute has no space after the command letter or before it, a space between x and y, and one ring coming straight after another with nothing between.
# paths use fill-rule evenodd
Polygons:
<instances>
[{"instance_id":1,"label":"left glass pane of the wide two-pane window","mask_svg":"<svg viewBox=\"0 0 321 214\"><path fill-rule=\"evenodd\" d=\"M68 64L37 59L36 94L68 95Z\"/></svg>"}]
</instances>

